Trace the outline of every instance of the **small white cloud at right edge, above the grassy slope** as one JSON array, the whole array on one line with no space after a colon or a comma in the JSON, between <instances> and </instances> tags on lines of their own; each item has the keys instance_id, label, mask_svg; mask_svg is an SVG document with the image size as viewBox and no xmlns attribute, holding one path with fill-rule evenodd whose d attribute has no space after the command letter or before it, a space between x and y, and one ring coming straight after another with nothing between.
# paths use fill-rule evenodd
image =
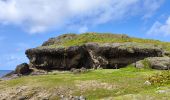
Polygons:
<instances>
[{"instance_id":1,"label":"small white cloud at right edge, above the grassy slope","mask_svg":"<svg viewBox=\"0 0 170 100\"><path fill-rule=\"evenodd\" d=\"M156 21L147 33L149 35L170 35L170 17L163 24L159 21Z\"/></svg>"}]
</instances>

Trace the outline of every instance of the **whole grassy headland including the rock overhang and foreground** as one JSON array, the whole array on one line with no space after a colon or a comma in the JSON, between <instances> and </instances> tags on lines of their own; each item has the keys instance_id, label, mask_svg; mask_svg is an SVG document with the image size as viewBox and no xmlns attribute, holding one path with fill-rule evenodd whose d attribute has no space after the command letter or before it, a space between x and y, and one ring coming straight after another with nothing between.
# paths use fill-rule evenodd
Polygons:
<instances>
[{"instance_id":1,"label":"whole grassy headland including the rock overhang and foreground","mask_svg":"<svg viewBox=\"0 0 170 100\"><path fill-rule=\"evenodd\" d=\"M125 34L64 34L26 50L0 80L3 100L168 100L170 43Z\"/></svg>"}]
</instances>

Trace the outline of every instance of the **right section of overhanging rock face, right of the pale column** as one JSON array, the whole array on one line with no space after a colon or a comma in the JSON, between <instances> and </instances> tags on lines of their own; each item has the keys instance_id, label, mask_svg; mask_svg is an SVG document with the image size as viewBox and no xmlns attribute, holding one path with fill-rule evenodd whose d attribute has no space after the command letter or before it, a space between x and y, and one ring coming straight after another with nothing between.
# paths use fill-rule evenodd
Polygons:
<instances>
[{"instance_id":1,"label":"right section of overhanging rock face, right of the pale column","mask_svg":"<svg viewBox=\"0 0 170 100\"><path fill-rule=\"evenodd\" d=\"M107 68L119 68L146 57L162 56L162 50L150 44L113 43L100 46L97 54L108 61Z\"/></svg>"}]
</instances>

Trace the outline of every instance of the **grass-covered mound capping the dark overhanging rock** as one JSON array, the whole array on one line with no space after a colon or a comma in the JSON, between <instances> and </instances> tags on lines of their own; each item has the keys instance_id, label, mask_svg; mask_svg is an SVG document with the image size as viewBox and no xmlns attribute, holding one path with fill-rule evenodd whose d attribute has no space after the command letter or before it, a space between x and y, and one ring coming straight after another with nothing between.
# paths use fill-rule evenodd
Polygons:
<instances>
[{"instance_id":1,"label":"grass-covered mound capping the dark overhanging rock","mask_svg":"<svg viewBox=\"0 0 170 100\"><path fill-rule=\"evenodd\" d=\"M96 43L124 43L124 42L136 42L145 44L154 44L155 46L161 46L167 51L170 51L170 43L162 42L159 40L141 39L135 37L129 37L125 34L111 34L111 33L83 33L83 34L64 34L57 38L52 38L50 43L45 47L68 47L75 45L82 45L89 42Z\"/></svg>"}]
</instances>

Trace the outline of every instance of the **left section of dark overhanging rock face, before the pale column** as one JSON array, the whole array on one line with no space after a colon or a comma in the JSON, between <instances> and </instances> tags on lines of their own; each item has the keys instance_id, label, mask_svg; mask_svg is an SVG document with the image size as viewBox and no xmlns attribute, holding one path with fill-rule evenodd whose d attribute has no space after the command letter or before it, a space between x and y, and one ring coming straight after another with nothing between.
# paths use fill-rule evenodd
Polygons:
<instances>
[{"instance_id":1,"label":"left section of dark overhanging rock face, before the pale column","mask_svg":"<svg viewBox=\"0 0 170 100\"><path fill-rule=\"evenodd\" d=\"M84 46L69 48L36 48L26 51L30 63L38 69L70 70L71 68L90 68L91 59Z\"/></svg>"}]
</instances>

